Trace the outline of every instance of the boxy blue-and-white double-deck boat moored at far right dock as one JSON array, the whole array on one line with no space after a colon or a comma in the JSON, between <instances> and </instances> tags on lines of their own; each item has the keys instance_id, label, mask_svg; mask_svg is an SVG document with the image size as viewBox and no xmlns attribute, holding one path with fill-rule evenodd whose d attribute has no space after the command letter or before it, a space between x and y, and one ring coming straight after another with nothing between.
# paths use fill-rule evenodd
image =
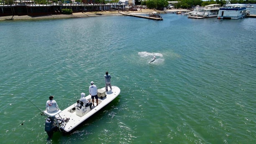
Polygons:
<instances>
[{"instance_id":1,"label":"boxy blue-and-white double-deck boat moored at far right dock","mask_svg":"<svg viewBox=\"0 0 256 144\"><path fill-rule=\"evenodd\" d=\"M220 8L218 19L239 19L246 16L246 5L244 4L226 4Z\"/></svg>"}]
</instances>

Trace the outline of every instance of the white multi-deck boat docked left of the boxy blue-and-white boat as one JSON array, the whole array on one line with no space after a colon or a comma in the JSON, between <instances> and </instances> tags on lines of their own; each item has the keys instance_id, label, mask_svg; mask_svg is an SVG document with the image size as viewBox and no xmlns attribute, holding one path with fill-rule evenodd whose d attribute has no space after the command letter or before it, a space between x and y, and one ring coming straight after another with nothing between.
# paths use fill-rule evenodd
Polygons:
<instances>
[{"instance_id":1,"label":"white multi-deck boat docked left of the boxy blue-and-white boat","mask_svg":"<svg viewBox=\"0 0 256 144\"><path fill-rule=\"evenodd\" d=\"M221 5L211 4L205 7L196 7L189 13L188 18L211 18L218 15Z\"/></svg>"}]
</instances>

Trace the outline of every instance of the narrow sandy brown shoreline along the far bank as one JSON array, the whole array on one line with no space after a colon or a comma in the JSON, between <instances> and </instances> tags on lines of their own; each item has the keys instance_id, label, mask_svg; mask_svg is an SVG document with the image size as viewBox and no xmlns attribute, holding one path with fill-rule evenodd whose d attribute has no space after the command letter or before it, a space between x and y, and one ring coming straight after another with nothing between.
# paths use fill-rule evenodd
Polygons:
<instances>
[{"instance_id":1,"label":"narrow sandy brown shoreline along the far bank","mask_svg":"<svg viewBox=\"0 0 256 144\"><path fill-rule=\"evenodd\" d=\"M184 11L183 9L171 9L166 10L166 12L176 12L176 11ZM128 14L147 14L155 12L155 10L151 9L142 9L141 11L124 11L124 13ZM165 13L164 11L157 11L160 13ZM99 12L85 12L85 13L73 13L71 15L39 15L39 16L29 16L29 15L10 15L10 16L3 16L0 17L1 20L40 20L40 19L61 19L61 18L84 18L84 17L95 17L95 16L102 16L102 15L122 15L119 13L118 10L114 11L99 11Z\"/></svg>"}]
</instances>

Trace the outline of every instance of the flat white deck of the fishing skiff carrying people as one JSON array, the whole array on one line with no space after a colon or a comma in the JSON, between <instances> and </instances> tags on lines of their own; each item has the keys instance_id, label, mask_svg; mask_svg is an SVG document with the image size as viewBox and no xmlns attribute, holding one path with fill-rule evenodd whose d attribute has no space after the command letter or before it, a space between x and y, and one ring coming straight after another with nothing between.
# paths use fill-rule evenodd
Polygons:
<instances>
[{"instance_id":1,"label":"flat white deck of the fishing skiff carrying people","mask_svg":"<svg viewBox=\"0 0 256 144\"><path fill-rule=\"evenodd\" d=\"M105 91L105 88L101 88L101 89ZM81 124L83 121L88 119L91 115L95 114L101 108L106 106L106 104L109 104L109 102L111 102L113 99L115 99L119 95L119 93L120 93L120 89L117 86L112 86L112 90L106 92L106 97L104 97L103 99L101 99L101 98L98 99L99 105L96 106L96 99L94 99L95 106L92 106L91 111L89 111L88 113L86 113L84 116L81 116L81 117L76 115L76 108L75 108L76 101L74 101L74 104L72 104L71 106L62 110L59 113L61 118L64 118L64 119L69 118L69 121L66 124L64 124L63 126L61 126L61 129L63 129L66 132L71 131L76 126ZM86 99L89 99L89 98L91 98L90 95L86 96ZM58 117L58 115L56 115L56 117Z\"/></svg>"}]
</instances>

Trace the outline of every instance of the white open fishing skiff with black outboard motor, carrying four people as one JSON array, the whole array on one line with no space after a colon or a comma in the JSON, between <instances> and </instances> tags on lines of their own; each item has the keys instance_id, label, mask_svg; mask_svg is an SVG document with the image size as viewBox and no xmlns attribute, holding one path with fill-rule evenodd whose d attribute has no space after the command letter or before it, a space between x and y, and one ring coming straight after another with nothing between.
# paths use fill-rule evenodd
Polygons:
<instances>
[{"instance_id":1,"label":"white open fishing skiff with black outboard motor, carrying four people","mask_svg":"<svg viewBox=\"0 0 256 144\"><path fill-rule=\"evenodd\" d=\"M45 131L49 138L53 135L54 131L71 132L79 124L91 117L93 114L101 110L104 106L113 101L120 93L120 88L112 86L112 90L105 91L105 88L98 89L98 106L94 100L94 106L85 106L82 101L76 101L74 104L68 106L64 110L54 112L43 111L46 114ZM86 96L90 99L91 95Z\"/></svg>"}]
</instances>

